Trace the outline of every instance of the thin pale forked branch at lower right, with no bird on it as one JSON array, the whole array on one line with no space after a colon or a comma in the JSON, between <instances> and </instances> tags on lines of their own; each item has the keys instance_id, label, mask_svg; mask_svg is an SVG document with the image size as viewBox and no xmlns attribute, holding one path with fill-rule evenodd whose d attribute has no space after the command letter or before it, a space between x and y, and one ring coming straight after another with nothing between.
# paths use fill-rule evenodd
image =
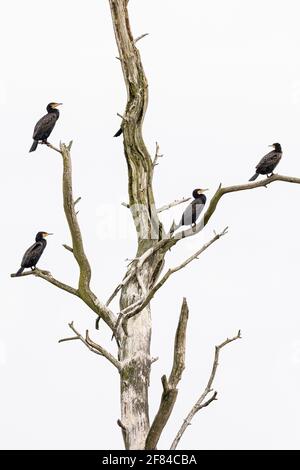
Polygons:
<instances>
[{"instance_id":1,"label":"thin pale forked branch at lower right, with no bird on it","mask_svg":"<svg viewBox=\"0 0 300 470\"><path fill-rule=\"evenodd\" d=\"M232 343L232 341L235 341L235 340L240 339L240 338L241 338L241 331L239 330L238 334L236 336L234 336L233 338L227 338L225 341L223 341L223 343L221 343L221 344L219 344L219 346L215 347L214 362L213 362L211 374L210 374L209 380L207 382L207 385L205 387L205 390L202 393L202 395L200 396L200 398L196 401L195 405L193 406L193 408L191 409L191 411L189 412L189 414L187 415L185 420L183 421L183 423L182 423L178 433L176 434L176 437L175 437L175 439L174 439L174 441L173 441L173 443L170 447L171 450L175 450L177 448L180 439L182 438L182 436L183 436L184 432L186 431L187 427L191 424L191 421L192 421L193 417L195 416L195 414L198 413L198 411L200 411L202 408L205 408L206 406L208 406L210 403L212 403L214 400L217 399L216 398L217 397L217 392L213 391L212 385L213 385L213 382L214 382L214 379L215 379L215 376L216 376L216 372L217 372L217 368L218 368L218 365L219 365L220 351L227 344ZM205 398L207 397L207 395L211 392L214 392L213 395L207 401L204 401Z\"/></svg>"}]
</instances>

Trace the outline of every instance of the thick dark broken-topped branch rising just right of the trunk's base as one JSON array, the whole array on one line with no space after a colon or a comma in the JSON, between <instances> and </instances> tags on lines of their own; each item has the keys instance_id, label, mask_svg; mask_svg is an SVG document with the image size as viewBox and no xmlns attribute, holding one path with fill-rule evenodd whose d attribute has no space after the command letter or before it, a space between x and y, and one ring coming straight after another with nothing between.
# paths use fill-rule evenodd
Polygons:
<instances>
[{"instance_id":1,"label":"thick dark broken-topped branch rising just right of the trunk's base","mask_svg":"<svg viewBox=\"0 0 300 470\"><path fill-rule=\"evenodd\" d=\"M173 367L168 380L166 376L162 377L163 392L161 402L146 439L146 450L156 448L177 399L177 385L181 380L185 368L185 344L188 316L189 309L186 299L184 298L174 342Z\"/></svg>"}]
</instances>

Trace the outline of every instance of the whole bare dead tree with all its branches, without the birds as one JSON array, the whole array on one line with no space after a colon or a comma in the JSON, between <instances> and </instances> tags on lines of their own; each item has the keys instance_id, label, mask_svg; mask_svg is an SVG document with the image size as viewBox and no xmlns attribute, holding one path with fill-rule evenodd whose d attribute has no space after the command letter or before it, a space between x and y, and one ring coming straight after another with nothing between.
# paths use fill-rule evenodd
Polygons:
<instances>
[{"instance_id":1,"label":"whole bare dead tree with all its branches, without the birds","mask_svg":"<svg viewBox=\"0 0 300 470\"><path fill-rule=\"evenodd\" d=\"M127 105L122 118L124 154L128 167L129 208L137 233L135 259L128 266L123 280L114 289L107 302L101 301L91 290L91 267L85 254L83 238L76 213L76 204L72 190L71 146L60 144L56 148L63 162L63 201L64 211L71 234L71 245L64 247L71 251L79 267L79 279L76 287L66 285L55 279L48 271L36 269L25 272L22 276L34 275L44 279L69 294L80 298L102 319L115 339L117 355L113 355L101 345L94 342L88 331L80 333L73 322L69 324L74 333L61 341L79 340L91 352L106 358L120 376L121 417L118 425L121 428L126 449L155 449L162 431L172 413L178 394L178 383L185 367L185 342L188 321L188 306L184 299L178 328L175 336L173 367L170 376L162 377L162 397L157 414L150 423L148 406L148 386L151 365L155 359L150 354L151 343L151 300L157 291L175 272L183 269L197 259L219 238L227 233L227 228L214 236L188 259L162 274L166 253L175 248L187 237L196 236L209 222L219 200L227 193L244 191L270 185L275 181L300 183L300 178L273 175L254 183L222 187L212 197L210 204L196 227L188 228L174 235L167 231L159 219L159 213L174 205L187 201L175 200L162 208L157 208L152 188L155 167L159 158L157 145L156 155L152 159L143 140L142 126L148 102L148 84L137 41L144 35L134 38L128 16L129 0L109 0L119 60L127 89ZM13 275L12 275L13 276ZM116 296L119 298L119 311L113 311L110 304ZM108 332L109 333L109 332ZM217 371L219 353L225 345L240 338L240 332L225 340L215 348L215 357L208 384L196 404L183 421L171 448L175 449L191 419L202 408L216 400L217 392L213 390L213 381Z\"/></svg>"}]
</instances>

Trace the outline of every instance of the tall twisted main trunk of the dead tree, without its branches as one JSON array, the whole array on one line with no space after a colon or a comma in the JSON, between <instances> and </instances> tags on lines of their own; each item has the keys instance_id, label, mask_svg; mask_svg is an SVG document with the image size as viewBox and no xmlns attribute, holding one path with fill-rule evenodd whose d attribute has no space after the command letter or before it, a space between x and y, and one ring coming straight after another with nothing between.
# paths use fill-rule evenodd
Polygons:
<instances>
[{"instance_id":1,"label":"tall twisted main trunk of the dead tree, without its branches","mask_svg":"<svg viewBox=\"0 0 300 470\"><path fill-rule=\"evenodd\" d=\"M134 218L137 257L151 248L160 233L152 191L153 162L142 137L142 123L148 103L148 84L139 51L132 36L127 0L110 0L119 58L127 88L127 106L122 122L124 153L129 174L129 206ZM152 256L122 288L120 308L124 310L147 294L161 266ZM129 268L129 273L134 267ZM124 331L125 330L125 331ZM149 432L148 386L151 369L150 305L130 318L118 334L121 372L121 427L126 449L144 449Z\"/></svg>"}]
</instances>

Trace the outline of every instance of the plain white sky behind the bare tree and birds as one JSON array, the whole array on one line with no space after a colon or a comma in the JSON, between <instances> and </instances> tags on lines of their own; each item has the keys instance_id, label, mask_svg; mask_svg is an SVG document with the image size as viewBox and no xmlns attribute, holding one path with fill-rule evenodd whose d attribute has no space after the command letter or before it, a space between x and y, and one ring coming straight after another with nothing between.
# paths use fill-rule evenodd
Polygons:
<instances>
[{"instance_id":1,"label":"plain white sky behind the bare tree and birds","mask_svg":"<svg viewBox=\"0 0 300 470\"><path fill-rule=\"evenodd\" d=\"M195 187L243 183L268 144L280 142L278 170L300 176L299 2L296 0L131 0L135 36L149 80L144 135L165 157L156 168L158 205ZM47 148L28 154L35 122L62 101L51 142L74 140L75 195L93 267L106 300L134 256L126 164L117 112L125 105L108 1L10 0L0 14L1 315L0 447L118 449L118 376L77 342L58 344L67 323L111 351L110 332L76 298L34 277L10 279L38 230L55 232L40 267L75 284L77 268L61 195L61 161ZM174 266L229 225L229 234L168 281L153 302L151 417L169 373L180 304L190 306L187 363L168 448L222 352L219 400L195 417L183 449L299 448L299 195L275 183L224 197L209 226L167 257ZM164 214L167 224L183 207ZM117 311L117 304L113 305ZM162 341L163 337L163 341Z\"/></svg>"}]
</instances>

